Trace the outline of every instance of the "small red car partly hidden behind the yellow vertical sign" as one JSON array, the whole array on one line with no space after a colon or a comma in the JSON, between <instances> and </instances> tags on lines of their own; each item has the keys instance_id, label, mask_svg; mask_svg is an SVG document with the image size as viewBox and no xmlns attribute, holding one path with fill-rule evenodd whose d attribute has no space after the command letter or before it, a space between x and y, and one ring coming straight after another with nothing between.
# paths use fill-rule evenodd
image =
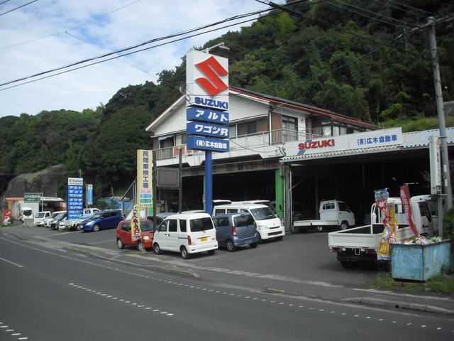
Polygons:
<instances>
[{"instance_id":1,"label":"small red car partly hidden behind the yellow vertical sign","mask_svg":"<svg viewBox=\"0 0 454 341\"><path fill-rule=\"evenodd\" d=\"M124 249L125 245L137 247L139 251L153 249L153 222L150 220L140 220L142 229L142 239L131 242L131 220L122 220L116 227L116 246Z\"/></svg>"}]
</instances>

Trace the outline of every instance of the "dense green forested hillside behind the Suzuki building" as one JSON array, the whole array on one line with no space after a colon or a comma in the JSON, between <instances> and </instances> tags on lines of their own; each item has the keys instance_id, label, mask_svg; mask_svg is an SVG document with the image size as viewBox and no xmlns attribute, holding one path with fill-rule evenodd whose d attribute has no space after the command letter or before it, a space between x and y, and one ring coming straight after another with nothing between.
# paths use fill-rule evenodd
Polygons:
<instances>
[{"instance_id":1,"label":"dense green forested hillside behind the Suzuki building","mask_svg":"<svg viewBox=\"0 0 454 341\"><path fill-rule=\"evenodd\" d=\"M418 28L432 13L437 24L443 96L454 96L453 1L297 1L274 10L223 41L230 50L231 85L312 104L406 130L436 126L428 34ZM183 57L183 56L182 56ZM135 178L135 150L150 148L145 126L179 96L185 65L164 70L155 84L121 90L105 105L82 113L60 110L0 119L4 174L0 190L17 173L63 163L79 169L96 195L121 193Z\"/></svg>"}]
</instances>

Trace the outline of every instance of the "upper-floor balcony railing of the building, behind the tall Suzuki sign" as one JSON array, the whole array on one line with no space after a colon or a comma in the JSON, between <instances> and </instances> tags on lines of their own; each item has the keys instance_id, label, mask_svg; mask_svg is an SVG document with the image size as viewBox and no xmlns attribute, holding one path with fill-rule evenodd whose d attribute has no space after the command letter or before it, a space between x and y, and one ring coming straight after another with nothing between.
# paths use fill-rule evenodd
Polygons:
<instances>
[{"instance_id":1,"label":"upper-floor balcony railing of the building, behind the tall Suzuki sign","mask_svg":"<svg viewBox=\"0 0 454 341\"><path fill-rule=\"evenodd\" d=\"M264 147L284 144L284 142L291 141L304 141L306 139L316 139L321 136L312 134L311 131L294 131L289 129L276 129L272 131L262 131L255 134L247 134L231 137L230 151L237 151L240 149L249 149L253 147ZM166 160L170 158L177 158L178 151L182 149L185 154L203 153L201 151L194 151L187 149L186 145L172 146L160 148L155 150L155 158L157 161Z\"/></svg>"}]
</instances>

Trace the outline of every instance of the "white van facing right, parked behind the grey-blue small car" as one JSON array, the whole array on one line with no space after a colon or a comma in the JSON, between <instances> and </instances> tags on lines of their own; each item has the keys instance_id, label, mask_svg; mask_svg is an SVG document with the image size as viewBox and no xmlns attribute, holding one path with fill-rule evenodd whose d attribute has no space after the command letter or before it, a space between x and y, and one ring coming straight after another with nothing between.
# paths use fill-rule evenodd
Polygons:
<instances>
[{"instance_id":1,"label":"white van facing right, parked behind the grey-blue small car","mask_svg":"<svg viewBox=\"0 0 454 341\"><path fill-rule=\"evenodd\" d=\"M281 240L285 235L284 224L270 207L259 204L235 204L218 205L213 209L213 215L226 215L228 213L248 212L253 215L257 224L257 231L261 239Z\"/></svg>"}]
</instances>

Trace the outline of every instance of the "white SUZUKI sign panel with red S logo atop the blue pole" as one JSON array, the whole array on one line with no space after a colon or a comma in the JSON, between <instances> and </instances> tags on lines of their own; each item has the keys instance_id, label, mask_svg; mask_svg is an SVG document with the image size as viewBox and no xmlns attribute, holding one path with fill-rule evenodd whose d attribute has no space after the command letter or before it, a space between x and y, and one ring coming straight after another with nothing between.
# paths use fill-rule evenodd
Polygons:
<instances>
[{"instance_id":1,"label":"white SUZUKI sign panel with red S logo atop the blue pole","mask_svg":"<svg viewBox=\"0 0 454 341\"><path fill-rule=\"evenodd\" d=\"M228 110L228 59L192 50L186 55L187 105Z\"/></svg>"}]
</instances>

